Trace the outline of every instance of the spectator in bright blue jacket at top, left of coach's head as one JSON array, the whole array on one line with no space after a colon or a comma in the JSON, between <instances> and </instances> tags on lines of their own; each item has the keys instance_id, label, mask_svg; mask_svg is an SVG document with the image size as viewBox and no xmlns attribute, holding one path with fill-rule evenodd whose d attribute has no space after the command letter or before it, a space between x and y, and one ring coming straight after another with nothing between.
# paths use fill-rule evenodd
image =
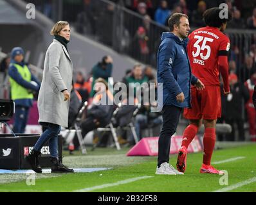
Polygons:
<instances>
[{"instance_id":1,"label":"spectator in bright blue jacket at top, left of coach's head","mask_svg":"<svg viewBox=\"0 0 256 205\"><path fill-rule=\"evenodd\" d=\"M154 20L156 20L158 24L165 25L169 16L170 16L170 10L168 8L167 1L165 0L160 1L160 6L156 10L156 13L154 15Z\"/></svg>"}]
</instances>

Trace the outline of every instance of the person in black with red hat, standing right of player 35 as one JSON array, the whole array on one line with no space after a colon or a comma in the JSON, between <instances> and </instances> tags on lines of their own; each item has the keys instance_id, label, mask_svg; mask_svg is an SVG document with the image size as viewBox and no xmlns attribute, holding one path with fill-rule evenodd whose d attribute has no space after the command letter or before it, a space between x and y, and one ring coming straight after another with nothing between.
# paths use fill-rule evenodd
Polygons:
<instances>
[{"instance_id":1,"label":"person in black with red hat, standing right of player 35","mask_svg":"<svg viewBox=\"0 0 256 205\"><path fill-rule=\"evenodd\" d=\"M236 74L229 75L230 81L230 94L224 96L224 102L226 103L226 123L232 126L232 133L226 135L226 140L235 140L235 124L239 133L239 141L244 141L244 116L242 116L242 110L244 109L243 102L249 100L248 89L237 81Z\"/></svg>"}]
</instances>

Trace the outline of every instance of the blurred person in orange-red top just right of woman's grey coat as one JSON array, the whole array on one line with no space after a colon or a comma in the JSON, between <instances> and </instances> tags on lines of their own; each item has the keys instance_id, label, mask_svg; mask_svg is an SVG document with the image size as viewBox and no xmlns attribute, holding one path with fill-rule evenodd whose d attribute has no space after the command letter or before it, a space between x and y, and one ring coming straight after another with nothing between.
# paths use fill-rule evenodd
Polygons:
<instances>
[{"instance_id":1,"label":"blurred person in orange-red top just right of woman's grey coat","mask_svg":"<svg viewBox=\"0 0 256 205\"><path fill-rule=\"evenodd\" d=\"M74 88L81 95L82 102L85 102L88 100L89 93L91 92L91 82L86 81L84 79L82 72L80 71L77 72Z\"/></svg>"}]
</instances>

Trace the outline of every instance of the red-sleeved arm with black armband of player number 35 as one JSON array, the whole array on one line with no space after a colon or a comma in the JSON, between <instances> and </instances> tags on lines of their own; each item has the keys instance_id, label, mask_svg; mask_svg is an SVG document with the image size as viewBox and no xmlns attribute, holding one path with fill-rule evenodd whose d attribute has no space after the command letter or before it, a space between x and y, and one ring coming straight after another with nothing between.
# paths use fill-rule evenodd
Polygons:
<instances>
[{"instance_id":1,"label":"red-sleeved arm with black armband of player number 35","mask_svg":"<svg viewBox=\"0 0 256 205\"><path fill-rule=\"evenodd\" d=\"M228 81L228 51L230 49L230 42L228 38L225 38L219 47L218 52L218 65L219 72L221 72L221 76L223 78L223 90L224 94L230 93L230 84Z\"/></svg>"}]
</instances>

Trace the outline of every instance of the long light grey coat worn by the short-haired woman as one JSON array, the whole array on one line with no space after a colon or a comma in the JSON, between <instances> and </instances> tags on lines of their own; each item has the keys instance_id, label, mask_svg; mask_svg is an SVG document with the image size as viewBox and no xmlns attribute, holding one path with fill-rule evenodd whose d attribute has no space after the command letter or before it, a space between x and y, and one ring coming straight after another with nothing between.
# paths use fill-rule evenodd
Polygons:
<instances>
[{"instance_id":1,"label":"long light grey coat worn by the short-haired woman","mask_svg":"<svg viewBox=\"0 0 256 205\"><path fill-rule=\"evenodd\" d=\"M58 40L46 51L42 84L39 90L38 110L39 123L58 124L68 127L69 100L64 101L62 90L70 94L73 76L73 64L66 47Z\"/></svg>"}]
</instances>

